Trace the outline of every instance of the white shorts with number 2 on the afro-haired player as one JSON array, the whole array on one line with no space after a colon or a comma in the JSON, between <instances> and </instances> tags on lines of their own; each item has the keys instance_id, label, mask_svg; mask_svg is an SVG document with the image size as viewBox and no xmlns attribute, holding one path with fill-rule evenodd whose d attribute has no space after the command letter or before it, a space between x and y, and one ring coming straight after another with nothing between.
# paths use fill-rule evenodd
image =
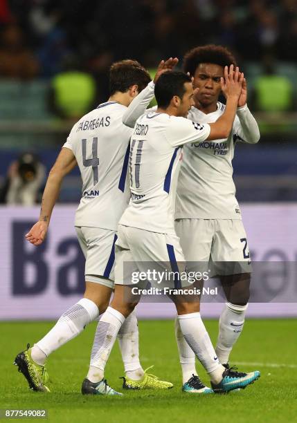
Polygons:
<instances>
[{"instance_id":1,"label":"white shorts with number 2 on the afro-haired player","mask_svg":"<svg viewBox=\"0 0 297 423\"><path fill-rule=\"evenodd\" d=\"M211 276L251 272L249 245L242 220L177 219L175 230L188 270L210 270Z\"/></svg>"}]
</instances>

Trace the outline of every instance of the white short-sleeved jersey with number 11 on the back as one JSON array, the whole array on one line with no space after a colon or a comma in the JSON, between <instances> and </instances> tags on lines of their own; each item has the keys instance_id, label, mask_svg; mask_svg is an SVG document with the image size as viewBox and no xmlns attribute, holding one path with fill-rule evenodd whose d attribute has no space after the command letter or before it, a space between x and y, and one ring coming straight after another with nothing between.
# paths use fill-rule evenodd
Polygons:
<instances>
[{"instance_id":1,"label":"white short-sleeved jersey with number 11 on the back","mask_svg":"<svg viewBox=\"0 0 297 423\"><path fill-rule=\"evenodd\" d=\"M129 153L131 199L121 225L174 234L174 200L183 144L203 142L210 126L166 113L136 121Z\"/></svg>"}]
</instances>

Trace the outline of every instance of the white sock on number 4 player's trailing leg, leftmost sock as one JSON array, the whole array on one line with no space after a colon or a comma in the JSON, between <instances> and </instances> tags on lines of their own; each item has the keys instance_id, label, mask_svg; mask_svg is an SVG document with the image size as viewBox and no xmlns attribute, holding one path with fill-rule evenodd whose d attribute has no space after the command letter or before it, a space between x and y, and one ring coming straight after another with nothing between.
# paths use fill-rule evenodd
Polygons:
<instances>
[{"instance_id":1,"label":"white sock on number 4 player's trailing leg, leftmost sock","mask_svg":"<svg viewBox=\"0 0 297 423\"><path fill-rule=\"evenodd\" d=\"M98 307L93 301L87 298L80 299L78 303L66 310L46 336L33 346L32 359L37 364L43 365L48 355L76 337L87 324L96 319L98 314Z\"/></svg>"}]
</instances>

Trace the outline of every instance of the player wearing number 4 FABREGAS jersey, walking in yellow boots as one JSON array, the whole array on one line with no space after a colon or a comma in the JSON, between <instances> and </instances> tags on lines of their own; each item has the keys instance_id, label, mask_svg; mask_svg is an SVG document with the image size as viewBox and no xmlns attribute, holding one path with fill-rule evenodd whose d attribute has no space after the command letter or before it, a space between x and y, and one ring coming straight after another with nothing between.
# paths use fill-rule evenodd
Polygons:
<instances>
[{"instance_id":1,"label":"player wearing number 4 FABREGAS jersey, walking in yellow boots","mask_svg":"<svg viewBox=\"0 0 297 423\"><path fill-rule=\"evenodd\" d=\"M162 61L155 79L174 67L177 59ZM71 129L49 173L39 220L26 239L40 245L48 232L53 207L62 180L76 165L82 176L82 198L75 215L75 230L85 263L84 297L66 310L55 326L32 348L17 355L15 364L34 391L49 391L46 385L46 359L53 351L76 337L109 305L114 290L114 244L118 220L129 201L127 165L132 129L122 122L123 113L140 93L150 75L134 60L116 62L110 69L110 97L97 109L84 115ZM132 313L118 334L127 379L138 381L142 388L168 388L172 384L146 375L138 357L138 326ZM98 339L95 337L94 344ZM92 380L91 375L89 379ZM102 381L96 390L82 393L117 394Z\"/></svg>"}]
</instances>

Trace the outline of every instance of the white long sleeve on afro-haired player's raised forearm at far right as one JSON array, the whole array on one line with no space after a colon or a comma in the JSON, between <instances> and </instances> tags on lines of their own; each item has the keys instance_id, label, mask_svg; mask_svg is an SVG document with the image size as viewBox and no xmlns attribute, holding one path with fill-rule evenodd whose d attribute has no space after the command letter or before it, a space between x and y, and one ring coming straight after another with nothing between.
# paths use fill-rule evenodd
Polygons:
<instances>
[{"instance_id":1,"label":"white long sleeve on afro-haired player's raised forearm at far right","mask_svg":"<svg viewBox=\"0 0 297 423\"><path fill-rule=\"evenodd\" d=\"M233 125L233 134L235 141L255 144L260 140L258 124L246 104L237 109L237 116Z\"/></svg>"}]
</instances>

